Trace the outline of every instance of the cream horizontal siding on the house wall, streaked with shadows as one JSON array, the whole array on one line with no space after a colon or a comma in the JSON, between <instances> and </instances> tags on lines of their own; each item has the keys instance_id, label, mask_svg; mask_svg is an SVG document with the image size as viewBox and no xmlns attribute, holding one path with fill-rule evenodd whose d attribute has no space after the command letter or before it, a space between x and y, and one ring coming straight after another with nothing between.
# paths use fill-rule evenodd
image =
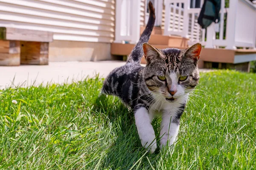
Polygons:
<instances>
[{"instance_id":1,"label":"cream horizontal siding on the house wall, streaked with shadows","mask_svg":"<svg viewBox=\"0 0 256 170\"><path fill-rule=\"evenodd\" d=\"M51 31L54 40L113 42L115 0L0 0L0 26Z\"/></svg>"}]
</instances>

